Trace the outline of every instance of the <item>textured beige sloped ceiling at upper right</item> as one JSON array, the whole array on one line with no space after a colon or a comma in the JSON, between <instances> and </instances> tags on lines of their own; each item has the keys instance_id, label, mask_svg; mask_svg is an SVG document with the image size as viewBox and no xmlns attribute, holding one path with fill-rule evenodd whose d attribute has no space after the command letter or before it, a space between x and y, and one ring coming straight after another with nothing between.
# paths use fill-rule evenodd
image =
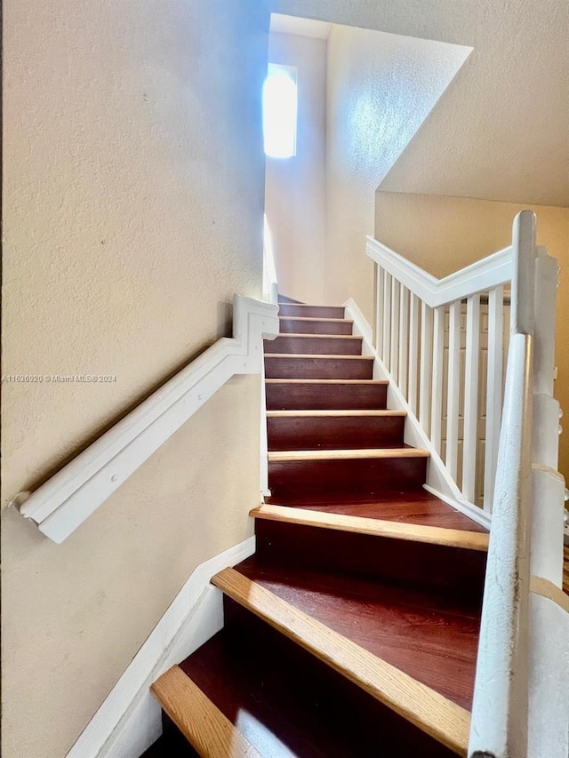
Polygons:
<instances>
[{"instance_id":1,"label":"textured beige sloped ceiling at upper right","mask_svg":"<svg viewBox=\"0 0 569 758\"><path fill-rule=\"evenodd\" d=\"M273 0L273 10L474 48L382 189L569 205L566 0Z\"/></svg>"}]
</instances>

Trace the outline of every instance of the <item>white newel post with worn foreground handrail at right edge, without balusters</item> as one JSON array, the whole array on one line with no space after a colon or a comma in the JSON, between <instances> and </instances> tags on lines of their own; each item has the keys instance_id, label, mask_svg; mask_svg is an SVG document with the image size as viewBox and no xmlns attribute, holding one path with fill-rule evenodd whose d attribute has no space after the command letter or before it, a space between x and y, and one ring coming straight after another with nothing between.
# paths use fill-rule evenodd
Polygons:
<instances>
[{"instance_id":1,"label":"white newel post with worn foreground handrail at right edge, without balusters","mask_svg":"<svg viewBox=\"0 0 569 758\"><path fill-rule=\"evenodd\" d=\"M565 483L553 398L557 261L536 247L531 211L518 214L512 248L511 341L469 755L566 758ZM545 599L540 590L530 594L536 582L552 588Z\"/></svg>"}]
</instances>

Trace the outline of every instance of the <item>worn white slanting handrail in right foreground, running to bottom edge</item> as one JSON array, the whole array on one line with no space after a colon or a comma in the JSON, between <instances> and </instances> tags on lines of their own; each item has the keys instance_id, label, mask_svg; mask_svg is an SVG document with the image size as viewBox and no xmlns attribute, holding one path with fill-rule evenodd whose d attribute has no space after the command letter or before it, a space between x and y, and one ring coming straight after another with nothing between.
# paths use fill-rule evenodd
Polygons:
<instances>
[{"instance_id":1,"label":"worn white slanting handrail in right foreground, running to bottom edge","mask_svg":"<svg viewBox=\"0 0 569 758\"><path fill-rule=\"evenodd\" d=\"M509 345L469 753L526 756L532 337Z\"/></svg>"}]
</instances>

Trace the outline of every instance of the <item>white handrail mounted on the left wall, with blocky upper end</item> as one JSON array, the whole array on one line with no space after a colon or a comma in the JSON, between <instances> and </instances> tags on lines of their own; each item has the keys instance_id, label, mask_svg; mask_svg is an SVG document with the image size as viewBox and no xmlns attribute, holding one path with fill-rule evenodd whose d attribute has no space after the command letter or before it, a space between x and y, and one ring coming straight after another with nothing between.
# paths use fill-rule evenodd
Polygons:
<instances>
[{"instance_id":1,"label":"white handrail mounted on the left wall, with blocky upper end","mask_svg":"<svg viewBox=\"0 0 569 758\"><path fill-rule=\"evenodd\" d=\"M218 339L79 453L29 495L20 514L53 542L67 539L228 379L260 372L262 339L278 334L277 313L276 305L236 295L233 338Z\"/></svg>"}]
</instances>

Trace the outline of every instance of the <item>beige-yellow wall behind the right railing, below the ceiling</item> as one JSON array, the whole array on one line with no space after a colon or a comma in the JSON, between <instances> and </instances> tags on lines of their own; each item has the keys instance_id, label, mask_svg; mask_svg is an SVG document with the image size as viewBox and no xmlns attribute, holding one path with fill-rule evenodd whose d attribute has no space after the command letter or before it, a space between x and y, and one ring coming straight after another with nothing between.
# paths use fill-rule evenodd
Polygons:
<instances>
[{"instance_id":1,"label":"beige-yellow wall behind the right railing, below the ceiling","mask_svg":"<svg viewBox=\"0 0 569 758\"><path fill-rule=\"evenodd\" d=\"M375 237L437 277L452 274L511 243L512 221L529 208L537 240L561 267L557 291L555 392L569 412L569 208L497 203L467 197L377 192ZM563 422L562 422L563 424ZM567 426L566 423L564 425ZM569 480L569 429L560 437L559 468Z\"/></svg>"}]
</instances>

